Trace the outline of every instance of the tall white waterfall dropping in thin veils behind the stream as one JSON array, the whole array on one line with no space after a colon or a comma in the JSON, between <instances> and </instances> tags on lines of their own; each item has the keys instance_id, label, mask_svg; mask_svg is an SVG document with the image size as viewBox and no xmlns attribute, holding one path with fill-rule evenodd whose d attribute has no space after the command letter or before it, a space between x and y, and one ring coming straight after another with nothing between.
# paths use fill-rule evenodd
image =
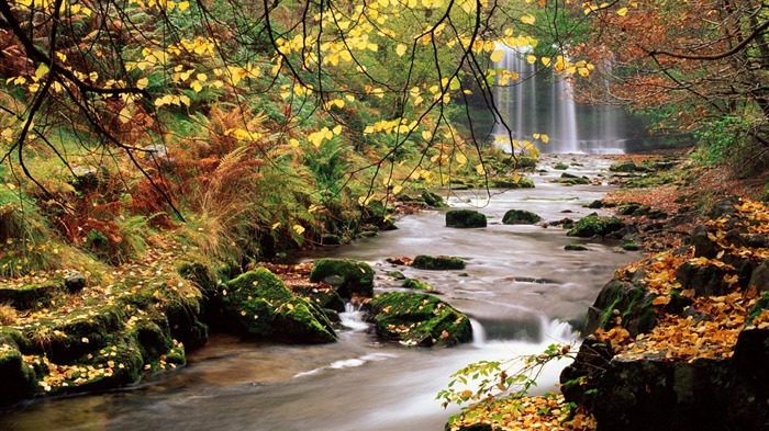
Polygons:
<instances>
[{"instance_id":1,"label":"tall white waterfall dropping in thin veils behind the stream","mask_svg":"<svg viewBox=\"0 0 769 431\"><path fill-rule=\"evenodd\" d=\"M532 140L542 152L556 154L624 154L627 136L623 125L627 122L617 107L583 105L575 102L571 81L556 73L538 71L526 56L531 48L510 48L504 52L494 68L509 70L516 80L497 80L494 104L499 111L492 134L497 145L511 152L508 139ZM498 75L499 77L499 75ZM550 139L543 144L533 139L534 134L546 134Z\"/></svg>"}]
</instances>

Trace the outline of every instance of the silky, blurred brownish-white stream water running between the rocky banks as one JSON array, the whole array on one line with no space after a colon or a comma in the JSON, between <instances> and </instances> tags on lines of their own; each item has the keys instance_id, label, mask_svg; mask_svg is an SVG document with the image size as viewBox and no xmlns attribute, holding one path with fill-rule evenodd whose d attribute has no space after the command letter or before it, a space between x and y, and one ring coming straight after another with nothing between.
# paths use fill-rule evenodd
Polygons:
<instances>
[{"instance_id":1,"label":"silky, blurred brownish-white stream water running between the rocky banks","mask_svg":"<svg viewBox=\"0 0 769 431\"><path fill-rule=\"evenodd\" d=\"M534 178L536 189L495 192L491 200L483 193L453 195L452 206L479 207L489 217L484 229L446 228L443 212L428 211L378 238L297 257L368 261L377 269L378 291L397 288L387 271L421 277L470 315L472 343L430 350L381 342L349 308L337 343L244 343L216 336L190 354L183 370L124 390L30 402L2 413L0 430L443 430L457 410L442 409L435 395L452 373L470 362L533 354L573 339L568 322L581 321L616 268L639 258L616 252L616 243L568 238L559 227L501 224L513 207L545 220L592 212L582 205L609 188L550 183L561 172L551 169L556 161L579 162L569 171L591 178L609 166L594 157L549 157L543 163L547 173ZM565 251L571 242L589 250ZM386 262L420 253L461 257L467 269L431 272ZM537 390L553 389L565 365L550 366Z\"/></svg>"}]
</instances>

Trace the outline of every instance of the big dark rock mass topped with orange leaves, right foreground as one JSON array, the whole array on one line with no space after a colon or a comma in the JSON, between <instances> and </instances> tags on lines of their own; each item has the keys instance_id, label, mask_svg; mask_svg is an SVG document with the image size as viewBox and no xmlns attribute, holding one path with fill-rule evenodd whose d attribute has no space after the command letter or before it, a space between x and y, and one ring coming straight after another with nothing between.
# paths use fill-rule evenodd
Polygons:
<instances>
[{"instance_id":1,"label":"big dark rock mass topped with orange leaves, right foreground","mask_svg":"<svg viewBox=\"0 0 769 431\"><path fill-rule=\"evenodd\" d=\"M691 247L617 271L589 309L560 382L599 430L769 429L769 209L718 206Z\"/></svg>"}]
</instances>

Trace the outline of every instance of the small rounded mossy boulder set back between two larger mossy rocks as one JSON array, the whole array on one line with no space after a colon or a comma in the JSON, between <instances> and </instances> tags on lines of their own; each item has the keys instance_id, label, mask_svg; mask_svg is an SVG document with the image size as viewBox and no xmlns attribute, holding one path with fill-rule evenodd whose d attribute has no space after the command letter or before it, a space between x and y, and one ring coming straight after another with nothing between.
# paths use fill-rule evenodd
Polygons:
<instances>
[{"instance_id":1,"label":"small rounded mossy boulder set back between two larger mossy rocks","mask_svg":"<svg viewBox=\"0 0 769 431\"><path fill-rule=\"evenodd\" d=\"M320 259L310 270L310 281L326 282L339 296L374 296L374 269L366 262L349 259Z\"/></svg>"}]
</instances>

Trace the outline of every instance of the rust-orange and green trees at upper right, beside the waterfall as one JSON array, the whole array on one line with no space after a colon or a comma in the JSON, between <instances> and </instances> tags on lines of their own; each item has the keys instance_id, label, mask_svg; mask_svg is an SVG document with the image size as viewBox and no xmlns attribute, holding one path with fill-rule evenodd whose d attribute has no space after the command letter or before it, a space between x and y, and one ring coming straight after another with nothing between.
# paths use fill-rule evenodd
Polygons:
<instances>
[{"instance_id":1,"label":"rust-orange and green trees at upper right, beside the waterfall","mask_svg":"<svg viewBox=\"0 0 769 431\"><path fill-rule=\"evenodd\" d=\"M589 1L572 10L592 36L572 52L604 66L583 97L693 131L706 162L743 174L769 168L769 3Z\"/></svg>"}]
</instances>

